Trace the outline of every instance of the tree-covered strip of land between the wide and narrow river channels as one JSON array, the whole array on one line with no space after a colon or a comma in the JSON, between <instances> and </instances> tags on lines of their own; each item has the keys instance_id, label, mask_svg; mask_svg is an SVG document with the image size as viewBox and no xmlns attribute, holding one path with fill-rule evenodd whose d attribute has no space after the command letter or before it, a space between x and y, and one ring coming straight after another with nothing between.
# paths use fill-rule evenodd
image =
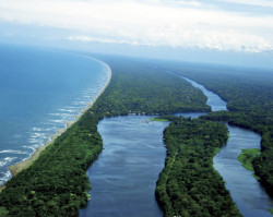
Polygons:
<instances>
[{"instance_id":1,"label":"tree-covered strip of land between the wide and narrow river channels","mask_svg":"<svg viewBox=\"0 0 273 217\"><path fill-rule=\"evenodd\" d=\"M200 119L174 119L164 131L167 158L156 186L165 216L241 216L213 156L227 141L227 128Z\"/></svg>"}]
</instances>

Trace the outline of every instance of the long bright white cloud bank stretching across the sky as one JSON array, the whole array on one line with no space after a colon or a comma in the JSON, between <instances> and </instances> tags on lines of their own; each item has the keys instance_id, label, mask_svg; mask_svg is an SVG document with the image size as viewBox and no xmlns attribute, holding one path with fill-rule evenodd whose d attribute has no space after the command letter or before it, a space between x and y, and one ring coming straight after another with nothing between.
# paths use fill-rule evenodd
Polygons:
<instances>
[{"instance_id":1,"label":"long bright white cloud bank stretching across the sky","mask_svg":"<svg viewBox=\"0 0 273 217\"><path fill-rule=\"evenodd\" d=\"M241 2L271 7L266 0ZM66 29L68 41L273 50L273 15L250 16L198 1L0 0L0 21Z\"/></svg>"}]
</instances>

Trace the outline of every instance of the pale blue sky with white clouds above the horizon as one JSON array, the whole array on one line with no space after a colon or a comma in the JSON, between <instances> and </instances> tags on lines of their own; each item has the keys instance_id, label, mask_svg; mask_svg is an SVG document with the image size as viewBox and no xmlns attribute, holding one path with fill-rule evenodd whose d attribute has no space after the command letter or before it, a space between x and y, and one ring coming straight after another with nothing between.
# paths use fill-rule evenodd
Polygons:
<instances>
[{"instance_id":1,"label":"pale blue sky with white clouds above the horizon","mask_svg":"<svg viewBox=\"0 0 273 217\"><path fill-rule=\"evenodd\" d=\"M1 41L273 68L273 0L0 0Z\"/></svg>"}]
</instances>

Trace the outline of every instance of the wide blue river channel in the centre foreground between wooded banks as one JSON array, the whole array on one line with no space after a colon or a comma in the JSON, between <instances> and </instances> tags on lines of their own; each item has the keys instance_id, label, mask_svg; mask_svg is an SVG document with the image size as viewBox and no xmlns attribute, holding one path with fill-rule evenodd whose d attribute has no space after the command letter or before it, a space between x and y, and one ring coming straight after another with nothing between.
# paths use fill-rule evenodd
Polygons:
<instances>
[{"instance_id":1,"label":"wide blue river channel in the centre foreground between wooded banks","mask_svg":"<svg viewBox=\"0 0 273 217\"><path fill-rule=\"evenodd\" d=\"M154 192L166 157L163 131L169 122L151 118L115 117L98 123L104 150L87 170L93 189L80 216L163 216Z\"/></svg>"}]
</instances>

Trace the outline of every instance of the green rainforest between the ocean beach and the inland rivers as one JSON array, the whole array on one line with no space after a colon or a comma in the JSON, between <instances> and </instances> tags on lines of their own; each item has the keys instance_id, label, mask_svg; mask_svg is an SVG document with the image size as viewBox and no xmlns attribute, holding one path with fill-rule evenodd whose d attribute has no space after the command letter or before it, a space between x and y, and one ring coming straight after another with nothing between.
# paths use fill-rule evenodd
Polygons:
<instances>
[{"instance_id":1,"label":"green rainforest between the ocean beach and the inland rivers","mask_svg":"<svg viewBox=\"0 0 273 217\"><path fill-rule=\"evenodd\" d=\"M90 190L87 167L103 149L97 123L105 117L209 111L203 93L144 61L105 59L112 79L94 106L7 182L0 216L78 216Z\"/></svg>"}]
</instances>

